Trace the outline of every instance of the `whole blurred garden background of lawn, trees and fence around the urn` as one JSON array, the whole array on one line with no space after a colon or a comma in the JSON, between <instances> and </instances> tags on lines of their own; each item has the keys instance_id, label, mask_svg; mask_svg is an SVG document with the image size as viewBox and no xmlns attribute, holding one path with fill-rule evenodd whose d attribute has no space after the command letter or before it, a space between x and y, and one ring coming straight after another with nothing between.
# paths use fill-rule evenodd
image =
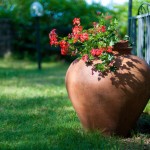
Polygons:
<instances>
[{"instance_id":1,"label":"whole blurred garden background of lawn, trees and fence around the urn","mask_svg":"<svg viewBox=\"0 0 150 150\"><path fill-rule=\"evenodd\" d=\"M0 150L150 149L150 101L132 138L83 132L65 88L74 58L49 45L53 28L66 36L75 17L88 28L97 12L117 18L123 38L130 14L132 47L150 64L150 4L137 16L143 2L150 0L0 0Z\"/></svg>"}]
</instances>

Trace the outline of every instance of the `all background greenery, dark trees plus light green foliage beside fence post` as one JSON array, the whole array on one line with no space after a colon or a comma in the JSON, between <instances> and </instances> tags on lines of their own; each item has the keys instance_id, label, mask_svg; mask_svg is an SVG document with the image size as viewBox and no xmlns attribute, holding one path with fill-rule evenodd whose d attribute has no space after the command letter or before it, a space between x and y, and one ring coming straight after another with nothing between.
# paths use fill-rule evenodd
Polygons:
<instances>
[{"instance_id":1,"label":"all background greenery, dark trees plus light green foliage beside fence post","mask_svg":"<svg viewBox=\"0 0 150 150\"><path fill-rule=\"evenodd\" d=\"M13 55L15 58L36 60L36 20L30 16L33 0L0 0L0 18L9 18L13 24ZM128 3L115 5L113 10L103 7L101 3L89 5L85 0L39 0L44 7L44 16L40 18L42 58L59 60L58 48L50 47L48 34L56 28L60 36L72 30L72 20L80 17L82 25L87 28L96 21L96 12L108 13L119 20L120 37L127 34ZM150 2L150 0L146 0ZM143 0L133 0L133 16L137 15ZM68 57L67 57L68 59Z\"/></svg>"}]
</instances>

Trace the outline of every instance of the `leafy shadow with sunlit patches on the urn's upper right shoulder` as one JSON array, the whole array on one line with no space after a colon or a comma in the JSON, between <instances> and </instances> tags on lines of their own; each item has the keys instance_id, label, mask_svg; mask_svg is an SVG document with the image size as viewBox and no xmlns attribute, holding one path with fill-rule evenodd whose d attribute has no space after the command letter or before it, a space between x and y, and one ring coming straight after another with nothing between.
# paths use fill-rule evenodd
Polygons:
<instances>
[{"instance_id":1,"label":"leafy shadow with sunlit patches on the urn's upper right shoulder","mask_svg":"<svg viewBox=\"0 0 150 150\"><path fill-rule=\"evenodd\" d=\"M125 87L128 85L131 88L134 88L137 84L140 83L140 80L135 76L135 72L139 72L143 77L147 76L147 72L142 69L142 61L140 59L135 59L132 55L115 55L116 59L114 61L113 70L106 70L104 72L97 71L92 67L91 73L98 73L98 81L102 78L105 78L111 74L112 85L117 88L121 85ZM128 61L123 61L127 59ZM144 64L144 63L143 63ZM87 67L93 66L93 64L87 64Z\"/></svg>"}]
</instances>

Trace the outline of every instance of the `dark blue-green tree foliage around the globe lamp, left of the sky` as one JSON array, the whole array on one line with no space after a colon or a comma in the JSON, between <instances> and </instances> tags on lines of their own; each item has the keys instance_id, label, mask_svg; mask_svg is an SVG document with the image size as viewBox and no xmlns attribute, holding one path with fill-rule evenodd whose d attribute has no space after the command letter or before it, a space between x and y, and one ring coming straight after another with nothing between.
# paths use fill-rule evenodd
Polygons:
<instances>
[{"instance_id":1,"label":"dark blue-green tree foliage around the globe lamp, left of the sky","mask_svg":"<svg viewBox=\"0 0 150 150\"><path fill-rule=\"evenodd\" d=\"M100 4L88 5L85 0L39 0L44 7L44 16L40 18L41 49L43 55L54 52L50 48L48 34L56 28L59 34L67 35L72 29L72 20L79 17L85 27L96 21L96 12L108 12ZM1 0L0 18L10 18L14 24L14 50L24 57L35 56L36 20L30 16L33 0ZM31 55L32 54L32 55Z\"/></svg>"}]
</instances>

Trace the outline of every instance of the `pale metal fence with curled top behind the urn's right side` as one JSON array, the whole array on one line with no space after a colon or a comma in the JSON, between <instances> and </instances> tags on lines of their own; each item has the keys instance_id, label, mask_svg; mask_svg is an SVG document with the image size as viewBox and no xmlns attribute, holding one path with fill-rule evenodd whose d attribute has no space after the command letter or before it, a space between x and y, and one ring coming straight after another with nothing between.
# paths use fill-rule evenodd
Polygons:
<instances>
[{"instance_id":1,"label":"pale metal fence with curled top behind the urn's right side","mask_svg":"<svg viewBox=\"0 0 150 150\"><path fill-rule=\"evenodd\" d=\"M138 15L130 17L129 21L133 53L150 64L150 4L143 3L138 9Z\"/></svg>"}]
</instances>

